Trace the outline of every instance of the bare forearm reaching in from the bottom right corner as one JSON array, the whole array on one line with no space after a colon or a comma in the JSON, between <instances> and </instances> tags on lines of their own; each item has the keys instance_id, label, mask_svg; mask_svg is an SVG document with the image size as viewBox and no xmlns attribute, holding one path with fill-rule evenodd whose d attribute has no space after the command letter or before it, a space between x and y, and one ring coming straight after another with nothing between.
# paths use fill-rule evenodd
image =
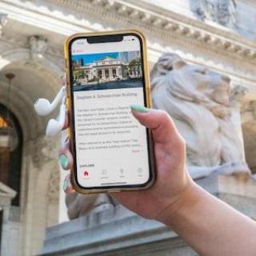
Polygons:
<instances>
[{"instance_id":1,"label":"bare forearm reaching in from the bottom right corner","mask_svg":"<svg viewBox=\"0 0 256 256\"><path fill-rule=\"evenodd\" d=\"M256 255L256 222L197 185L162 214L200 255Z\"/></svg>"}]
</instances>

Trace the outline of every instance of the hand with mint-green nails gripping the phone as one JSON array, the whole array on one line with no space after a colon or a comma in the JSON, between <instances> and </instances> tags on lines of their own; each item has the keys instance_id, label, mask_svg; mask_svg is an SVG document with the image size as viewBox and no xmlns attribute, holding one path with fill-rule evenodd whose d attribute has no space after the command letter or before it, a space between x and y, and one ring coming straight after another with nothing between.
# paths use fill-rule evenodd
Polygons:
<instances>
[{"instance_id":1,"label":"hand with mint-green nails gripping the phone","mask_svg":"<svg viewBox=\"0 0 256 256\"><path fill-rule=\"evenodd\" d=\"M189 193L190 187L194 185L186 170L186 143L165 111L150 110L143 106L131 106L131 109L142 126L152 131L157 178L154 186L148 190L111 195L142 217L161 220L166 210L170 212L170 208L182 200L183 195ZM60 153L60 158L66 159L60 161L62 167L70 169L73 158L67 142ZM72 191L68 178L64 186L67 192Z\"/></svg>"}]
</instances>

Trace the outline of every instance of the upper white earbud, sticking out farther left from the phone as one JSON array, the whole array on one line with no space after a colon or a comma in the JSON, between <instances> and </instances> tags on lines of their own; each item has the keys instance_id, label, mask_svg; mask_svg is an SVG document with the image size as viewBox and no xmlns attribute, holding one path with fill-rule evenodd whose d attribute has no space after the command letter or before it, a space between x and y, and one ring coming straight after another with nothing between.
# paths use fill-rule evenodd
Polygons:
<instances>
[{"instance_id":1,"label":"upper white earbud, sticking out farther left from the phone","mask_svg":"<svg viewBox=\"0 0 256 256\"><path fill-rule=\"evenodd\" d=\"M62 86L62 89L59 90L58 94L54 98L53 102L49 102L46 98L38 98L37 102L34 103L34 110L38 115L44 116L50 114L58 103L62 101L62 98L65 96L66 86Z\"/></svg>"}]
</instances>

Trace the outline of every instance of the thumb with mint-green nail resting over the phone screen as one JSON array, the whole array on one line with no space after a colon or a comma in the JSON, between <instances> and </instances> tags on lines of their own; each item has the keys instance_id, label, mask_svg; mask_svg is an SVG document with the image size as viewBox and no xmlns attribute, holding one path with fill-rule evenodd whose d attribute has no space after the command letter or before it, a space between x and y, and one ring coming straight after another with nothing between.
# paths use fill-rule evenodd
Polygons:
<instances>
[{"instance_id":1,"label":"thumb with mint-green nail resting over the phone screen","mask_svg":"<svg viewBox=\"0 0 256 256\"><path fill-rule=\"evenodd\" d=\"M148 109L140 105L131 105L130 108L132 114L134 114L134 118L137 118L142 126L146 126L146 128L152 131L154 142L166 143L183 141L174 121L166 111Z\"/></svg>"}]
</instances>

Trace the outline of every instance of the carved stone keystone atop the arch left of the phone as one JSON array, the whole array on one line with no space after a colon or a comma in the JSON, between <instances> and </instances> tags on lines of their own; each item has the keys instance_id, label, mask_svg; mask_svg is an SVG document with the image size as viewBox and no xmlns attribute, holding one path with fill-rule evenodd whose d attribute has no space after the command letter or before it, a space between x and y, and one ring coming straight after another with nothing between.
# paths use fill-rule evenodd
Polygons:
<instances>
[{"instance_id":1,"label":"carved stone keystone atop the arch left of the phone","mask_svg":"<svg viewBox=\"0 0 256 256\"><path fill-rule=\"evenodd\" d=\"M40 35L33 35L30 36L29 43L32 57L35 55L38 58L42 58L48 48L47 39Z\"/></svg>"}]
</instances>

